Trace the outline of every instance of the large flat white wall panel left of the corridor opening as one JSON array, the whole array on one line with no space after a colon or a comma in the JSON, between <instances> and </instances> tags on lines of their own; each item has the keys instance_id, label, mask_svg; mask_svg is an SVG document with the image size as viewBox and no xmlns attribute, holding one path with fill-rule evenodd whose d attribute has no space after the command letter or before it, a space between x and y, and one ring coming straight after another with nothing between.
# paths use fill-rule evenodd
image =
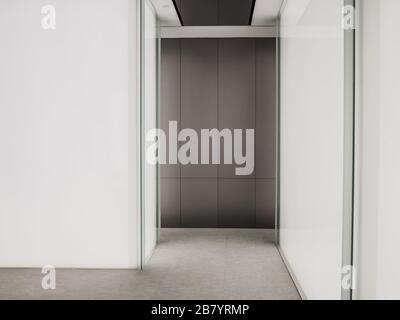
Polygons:
<instances>
[{"instance_id":1,"label":"large flat white wall panel left of the corridor opening","mask_svg":"<svg viewBox=\"0 0 400 320\"><path fill-rule=\"evenodd\" d=\"M136 1L0 1L0 267L136 267L136 36Z\"/></svg>"}]
</instances>

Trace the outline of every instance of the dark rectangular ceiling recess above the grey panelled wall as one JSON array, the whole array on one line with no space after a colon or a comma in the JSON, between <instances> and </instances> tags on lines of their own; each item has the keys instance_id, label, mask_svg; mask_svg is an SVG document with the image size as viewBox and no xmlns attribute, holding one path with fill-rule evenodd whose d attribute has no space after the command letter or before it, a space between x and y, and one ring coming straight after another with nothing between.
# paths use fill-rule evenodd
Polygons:
<instances>
[{"instance_id":1,"label":"dark rectangular ceiling recess above the grey panelled wall","mask_svg":"<svg viewBox=\"0 0 400 320\"><path fill-rule=\"evenodd\" d=\"M173 0L185 26L251 24L256 0Z\"/></svg>"}]
</instances>

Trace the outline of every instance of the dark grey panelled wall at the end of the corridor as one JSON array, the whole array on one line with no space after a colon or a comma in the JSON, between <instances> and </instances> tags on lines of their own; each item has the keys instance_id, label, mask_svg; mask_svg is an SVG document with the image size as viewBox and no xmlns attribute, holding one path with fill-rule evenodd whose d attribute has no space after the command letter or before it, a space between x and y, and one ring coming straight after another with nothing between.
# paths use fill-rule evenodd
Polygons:
<instances>
[{"instance_id":1,"label":"dark grey panelled wall at the end of the corridor","mask_svg":"<svg viewBox=\"0 0 400 320\"><path fill-rule=\"evenodd\" d=\"M161 166L163 227L275 225L275 39L163 39L161 127L255 129L255 170Z\"/></svg>"}]
</instances>

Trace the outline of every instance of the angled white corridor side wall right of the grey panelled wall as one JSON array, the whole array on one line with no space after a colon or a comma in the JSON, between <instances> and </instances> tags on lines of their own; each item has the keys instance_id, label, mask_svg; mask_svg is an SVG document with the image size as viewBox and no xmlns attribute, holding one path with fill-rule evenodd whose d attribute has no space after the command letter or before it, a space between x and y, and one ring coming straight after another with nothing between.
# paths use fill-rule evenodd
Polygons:
<instances>
[{"instance_id":1,"label":"angled white corridor side wall right of the grey panelled wall","mask_svg":"<svg viewBox=\"0 0 400 320\"><path fill-rule=\"evenodd\" d=\"M340 299L343 1L289 0L281 17L280 246L309 299Z\"/></svg>"}]
</instances>

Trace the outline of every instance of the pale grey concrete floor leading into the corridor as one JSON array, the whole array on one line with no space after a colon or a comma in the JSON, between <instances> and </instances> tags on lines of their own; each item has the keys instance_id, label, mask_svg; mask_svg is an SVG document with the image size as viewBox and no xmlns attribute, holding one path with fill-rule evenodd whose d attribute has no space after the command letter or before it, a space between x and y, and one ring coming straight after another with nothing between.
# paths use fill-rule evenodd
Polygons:
<instances>
[{"instance_id":1,"label":"pale grey concrete floor leading into the corridor","mask_svg":"<svg viewBox=\"0 0 400 320\"><path fill-rule=\"evenodd\" d=\"M0 299L300 299L272 230L163 229L144 271L0 269Z\"/></svg>"}]
</instances>

